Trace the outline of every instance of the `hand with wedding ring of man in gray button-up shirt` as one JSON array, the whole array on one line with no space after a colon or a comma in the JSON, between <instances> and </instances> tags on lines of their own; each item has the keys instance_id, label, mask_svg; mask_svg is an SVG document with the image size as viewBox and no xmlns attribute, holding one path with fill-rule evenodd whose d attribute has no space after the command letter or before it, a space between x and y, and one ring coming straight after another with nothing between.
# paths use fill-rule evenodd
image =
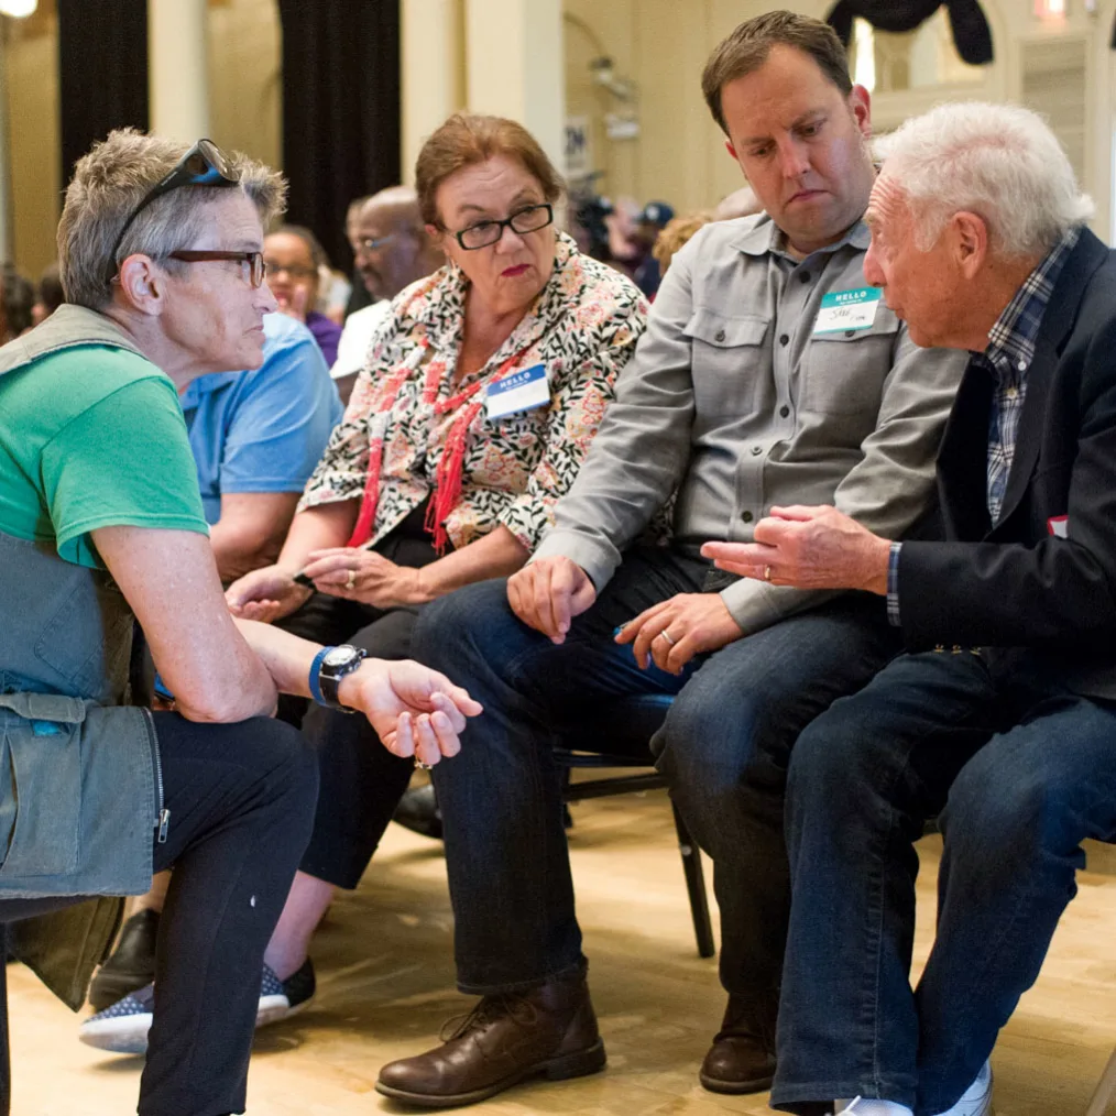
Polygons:
<instances>
[{"instance_id":1,"label":"hand with wedding ring of man in gray button-up shirt","mask_svg":"<svg viewBox=\"0 0 1116 1116\"><path fill-rule=\"evenodd\" d=\"M681 674L694 655L720 651L743 634L720 594L680 593L628 620L616 642L632 644L641 671L647 670L650 658L661 671Z\"/></svg>"}]
</instances>

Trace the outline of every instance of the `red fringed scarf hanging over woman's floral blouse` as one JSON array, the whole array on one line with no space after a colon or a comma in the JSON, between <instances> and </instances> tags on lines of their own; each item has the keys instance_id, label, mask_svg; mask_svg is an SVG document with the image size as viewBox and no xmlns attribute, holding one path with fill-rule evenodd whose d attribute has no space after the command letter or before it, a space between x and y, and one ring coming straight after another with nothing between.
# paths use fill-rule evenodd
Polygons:
<instances>
[{"instance_id":1,"label":"red fringed scarf hanging over woman's floral blouse","mask_svg":"<svg viewBox=\"0 0 1116 1116\"><path fill-rule=\"evenodd\" d=\"M503 364L491 376L470 384L469 387L451 395L448 400L436 402L439 383L445 372L445 362L433 359L426 369L425 383L423 384L423 401L433 404L435 417L456 411L464 404L460 415L453 420L450 432L445 436L445 449L442 452L442 460L437 464L437 472L434 475L434 493L431 497L430 506L426 509L426 530L434 536L434 549L439 554L445 551L450 537L445 530L445 519L458 506L461 499L462 470L465 459L465 443L469 436L469 427L480 414L484 406L483 398L473 400L473 396L482 387L498 379L502 379L508 372L522 358L523 354L530 349L536 341L531 341L518 353L508 357ZM368 443L368 480L364 487L364 498L360 501L360 512L357 516L356 527L353 528L346 546L363 547L372 538L373 523L376 519L376 508L379 504L379 473L384 458L384 434L387 432L387 424L391 420L392 408L395 406L403 391L403 385L410 379L415 368L422 363L423 354L426 352L430 341L423 337L419 341L415 356L410 357L403 366L392 374L384 386L381 396L382 402L372 415L371 423L374 427L373 436ZM470 402L472 401L472 402Z\"/></svg>"}]
</instances>

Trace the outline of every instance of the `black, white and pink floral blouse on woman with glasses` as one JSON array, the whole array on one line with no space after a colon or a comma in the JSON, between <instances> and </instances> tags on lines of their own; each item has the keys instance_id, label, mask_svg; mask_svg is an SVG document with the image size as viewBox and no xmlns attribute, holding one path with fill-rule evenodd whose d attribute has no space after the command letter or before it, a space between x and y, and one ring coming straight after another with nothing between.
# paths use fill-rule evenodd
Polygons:
<instances>
[{"instance_id":1,"label":"black, white and pink floral blouse on woman with glasses","mask_svg":"<svg viewBox=\"0 0 1116 1116\"><path fill-rule=\"evenodd\" d=\"M496 420L474 407L460 498L442 521L455 548L500 523L528 550L538 546L554 522L555 503L585 460L616 376L646 328L647 304L628 279L559 233L554 271L523 319L483 368L453 384L468 287L461 269L449 263L395 298L345 417L307 482L300 511L362 499L372 453L382 453L368 539L375 546L432 496L463 406L446 410L446 401L478 381L491 383L497 373L502 378L542 364L549 405Z\"/></svg>"}]
</instances>

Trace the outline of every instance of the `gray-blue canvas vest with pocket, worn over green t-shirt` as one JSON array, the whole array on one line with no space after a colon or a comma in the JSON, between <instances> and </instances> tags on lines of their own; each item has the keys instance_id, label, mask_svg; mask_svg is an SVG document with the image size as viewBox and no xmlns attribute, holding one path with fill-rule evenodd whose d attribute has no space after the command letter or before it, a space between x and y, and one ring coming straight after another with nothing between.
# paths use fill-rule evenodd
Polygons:
<instances>
[{"instance_id":1,"label":"gray-blue canvas vest with pocket, worn over green t-shirt","mask_svg":"<svg viewBox=\"0 0 1116 1116\"><path fill-rule=\"evenodd\" d=\"M33 375L28 365L62 349L79 362L86 345L137 352L103 315L64 306L0 348L0 376ZM132 612L106 573L2 526L0 899L146 892L162 780L150 713L119 705ZM118 910L84 904L19 923L17 952L76 1007Z\"/></svg>"}]
</instances>

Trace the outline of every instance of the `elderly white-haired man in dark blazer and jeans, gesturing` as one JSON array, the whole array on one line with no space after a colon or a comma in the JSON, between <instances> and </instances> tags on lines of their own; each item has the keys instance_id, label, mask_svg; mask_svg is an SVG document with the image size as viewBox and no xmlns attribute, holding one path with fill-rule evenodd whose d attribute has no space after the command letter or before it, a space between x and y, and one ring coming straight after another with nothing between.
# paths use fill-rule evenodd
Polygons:
<instances>
[{"instance_id":1,"label":"elderly white-haired man in dark blazer and jeans, gesturing","mask_svg":"<svg viewBox=\"0 0 1116 1116\"><path fill-rule=\"evenodd\" d=\"M1026 109L905 124L865 275L921 345L971 352L939 456L944 539L799 507L705 548L777 585L886 596L907 647L795 749L776 1108L987 1113L1080 843L1116 838L1116 264L1089 212ZM937 939L912 991L912 843L935 814Z\"/></svg>"}]
</instances>

